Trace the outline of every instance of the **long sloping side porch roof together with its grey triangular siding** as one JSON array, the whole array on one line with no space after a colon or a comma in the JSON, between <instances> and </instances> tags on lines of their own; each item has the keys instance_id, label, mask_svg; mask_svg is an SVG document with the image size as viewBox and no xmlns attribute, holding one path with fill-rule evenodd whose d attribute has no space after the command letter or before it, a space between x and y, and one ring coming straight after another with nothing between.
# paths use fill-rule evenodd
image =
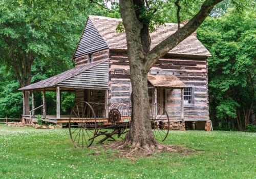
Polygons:
<instances>
[{"instance_id":1,"label":"long sloping side porch roof together with its grey triangular siding","mask_svg":"<svg viewBox=\"0 0 256 179\"><path fill-rule=\"evenodd\" d=\"M55 75L51 78L19 88L19 90L47 89L50 87L66 88L108 88L109 62L108 60L77 66L71 70Z\"/></svg>"}]
</instances>

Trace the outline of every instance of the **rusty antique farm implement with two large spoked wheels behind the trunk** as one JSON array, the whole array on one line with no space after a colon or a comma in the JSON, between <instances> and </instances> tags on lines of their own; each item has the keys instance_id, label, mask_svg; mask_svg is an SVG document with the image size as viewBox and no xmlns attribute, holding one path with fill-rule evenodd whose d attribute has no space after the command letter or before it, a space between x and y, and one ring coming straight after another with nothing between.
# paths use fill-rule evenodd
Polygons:
<instances>
[{"instance_id":1,"label":"rusty antique farm implement with two large spoked wheels behind the trunk","mask_svg":"<svg viewBox=\"0 0 256 179\"><path fill-rule=\"evenodd\" d=\"M169 117L158 103L150 105L151 124L156 139L164 141L169 132ZM115 141L130 128L132 106L129 103L78 102L69 118L69 133L75 147L90 147L95 138L98 143Z\"/></svg>"}]
</instances>

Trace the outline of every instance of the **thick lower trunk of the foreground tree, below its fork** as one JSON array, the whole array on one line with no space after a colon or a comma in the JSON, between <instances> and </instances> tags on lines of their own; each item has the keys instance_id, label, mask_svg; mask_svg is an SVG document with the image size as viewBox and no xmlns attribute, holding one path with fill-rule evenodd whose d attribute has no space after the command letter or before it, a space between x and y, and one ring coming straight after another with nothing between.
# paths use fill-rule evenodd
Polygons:
<instances>
[{"instance_id":1,"label":"thick lower trunk of the foreground tree, below its fork","mask_svg":"<svg viewBox=\"0 0 256 179\"><path fill-rule=\"evenodd\" d=\"M147 71L144 69L142 60L139 61L140 63L137 61L136 64L130 63L133 110L131 127L126 136L126 142L131 142L132 146L150 149L157 146L158 143L154 138L151 127Z\"/></svg>"}]
</instances>

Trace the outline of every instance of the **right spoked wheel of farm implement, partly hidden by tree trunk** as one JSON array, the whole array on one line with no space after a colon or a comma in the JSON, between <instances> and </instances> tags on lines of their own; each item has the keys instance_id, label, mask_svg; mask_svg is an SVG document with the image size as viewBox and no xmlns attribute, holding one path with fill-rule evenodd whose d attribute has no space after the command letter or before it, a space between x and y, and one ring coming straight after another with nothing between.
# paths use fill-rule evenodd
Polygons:
<instances>
[{"instance_id":1,"label":"right spoked wheel of farm implement, partly hidden by tree trunk","mask_svg":"<svg viewBox=\"0 0 256 179\"><path fill-rule=\"evenodd\" d=\"M164 141L169 133L169 117L167 111L158 103L151 104L151 125L155 138Z\"/></svg>"}]
</instances>

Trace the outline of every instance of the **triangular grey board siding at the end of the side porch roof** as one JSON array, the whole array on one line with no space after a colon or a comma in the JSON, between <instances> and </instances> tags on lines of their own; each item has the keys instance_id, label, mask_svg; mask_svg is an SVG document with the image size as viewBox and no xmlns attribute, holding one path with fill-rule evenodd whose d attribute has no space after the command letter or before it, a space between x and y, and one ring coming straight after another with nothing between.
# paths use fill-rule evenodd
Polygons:
<instances>
[{"instance_id":1,"label":"triangular grey board siding at the end of the side porch roof","mask_svg":"<svg viewBox=\"0 0 256 179\"><path fill-rule=\"evenodd\" d=\"M109 62L108 60L93 66L74 77L58 83L61 87L108 89Z\"/></svg>"}]
</instances>

